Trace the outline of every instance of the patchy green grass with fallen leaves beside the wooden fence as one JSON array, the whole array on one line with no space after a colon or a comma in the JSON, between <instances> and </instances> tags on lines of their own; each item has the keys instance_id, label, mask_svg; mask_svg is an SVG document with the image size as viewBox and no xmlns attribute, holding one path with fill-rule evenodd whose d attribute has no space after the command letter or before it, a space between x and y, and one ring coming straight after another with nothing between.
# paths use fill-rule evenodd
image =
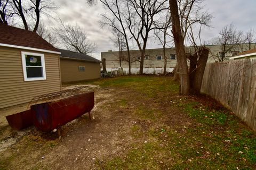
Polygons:
<instances>
[{"instance_id":1,"label":"patchy green grass with fallen leaves beside the wooden fence","mask_svg":"<svg viewBox=\"0 0 256 170\"><path fill-rule=\"evenodd\" d=\"M97 82L94 82L97 83ZM256 139L234 114L210 100L178 95L178 86L170 78L125 77L105 80L102 87L133 88L143 100L135 105L134 114L148 120L151 127L131 127L133 137L146 139L133 143L123 156L113 157L99 165L100 169L255 169ZM166 98L172 107L191 118L189 126L172 128L161 121ZM141 99L141 98L140 98ZM133 103L138 101L133 98ZM152 105L147 105L147 102ZM131 101L125 100L125 104ZM146 104L144 104L146 103ZM122 106L122 103L121 103ZM166 106L168 107L168 106ZM181 113L181 114L182 114ZM162 126L159 126L161 125ZM146 132L146 133L143 133Z\"/></svg>"}]
</instances>

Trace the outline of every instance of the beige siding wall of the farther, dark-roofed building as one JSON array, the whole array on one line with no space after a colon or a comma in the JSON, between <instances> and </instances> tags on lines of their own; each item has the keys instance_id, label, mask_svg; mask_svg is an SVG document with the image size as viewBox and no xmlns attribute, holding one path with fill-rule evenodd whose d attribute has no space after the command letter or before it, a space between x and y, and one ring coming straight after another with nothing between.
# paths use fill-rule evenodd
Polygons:
<instances>
[{"instance_id":1,"label":"beige siding wall of the farther, dark-roofed building","mask_svg":"<svg viewBox=\"0 0 256 170\"><path fill-rule=\"evenodd\" d=\"M79 71L78 66L85 66L85 71ZM60 70L62 82L100 78L100 63L60 58Z\"/></svg>"}]
</instances>

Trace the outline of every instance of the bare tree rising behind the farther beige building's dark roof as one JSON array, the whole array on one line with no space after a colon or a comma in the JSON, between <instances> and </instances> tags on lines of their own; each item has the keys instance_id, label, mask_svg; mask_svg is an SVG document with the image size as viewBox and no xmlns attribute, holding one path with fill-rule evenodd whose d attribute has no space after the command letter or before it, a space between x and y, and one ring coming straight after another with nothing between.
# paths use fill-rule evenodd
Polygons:
<instances>
[{"instance_id":1,"label":"bare tree rising behind the farther beige building's dark roof","mask_svg":"<svg viewBox=\"0 0 256 170\"><path fill-rule=\"evenodd\" d=\"M87 39L86 33L77 24L65 24L60 21L60 26L54 28L54 32L68 50L88 54L96 48L96 44Z\"/></svg>"}]
</instances>

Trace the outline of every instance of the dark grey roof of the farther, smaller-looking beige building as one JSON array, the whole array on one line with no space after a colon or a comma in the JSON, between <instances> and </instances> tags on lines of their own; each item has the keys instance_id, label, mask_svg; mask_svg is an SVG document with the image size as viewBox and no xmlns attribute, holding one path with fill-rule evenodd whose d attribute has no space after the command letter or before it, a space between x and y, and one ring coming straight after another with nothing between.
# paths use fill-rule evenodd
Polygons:
<instances>
[{"instance_id":1,"label":"dark grey roof of the farther, smaller-looking beige building","mask_svg":"<svg viewBox=\"0 0 256 170\"><path fill-rule=\"evenodd\" d=\"M87 62L101 63L101 61L97 60L96 58L93 58L93 57L83 54L83 53L71 52L71 51L65 50L65 49L59 49L59 51L61 52L60 57L84 60Z\"/></svg>"}]
</instances>

